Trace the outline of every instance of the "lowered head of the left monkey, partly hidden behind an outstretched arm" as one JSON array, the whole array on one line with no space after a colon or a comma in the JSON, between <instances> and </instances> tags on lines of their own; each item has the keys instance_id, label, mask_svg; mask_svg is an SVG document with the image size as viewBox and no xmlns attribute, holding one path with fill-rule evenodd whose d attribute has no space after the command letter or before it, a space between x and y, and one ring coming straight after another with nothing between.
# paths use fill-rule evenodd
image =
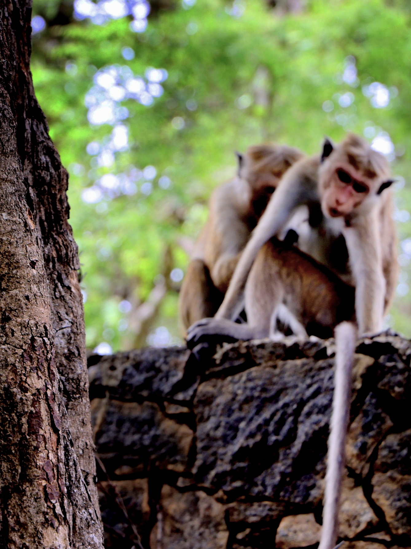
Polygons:
<instances>
[{"instance_id":1,"label":"lowered head of the left monkey, partly hidden behind an outstretched arm","mask_svg":"<svg viewBox=\"0 0 411 549\"><path fill-rule=\"evenodd\" d=\"M304 155L294 147L262 144L248 147L245 154L237 153L238 176L247 181L250 203L259 217L283 174Z\"/></svg>"}]
</instances>

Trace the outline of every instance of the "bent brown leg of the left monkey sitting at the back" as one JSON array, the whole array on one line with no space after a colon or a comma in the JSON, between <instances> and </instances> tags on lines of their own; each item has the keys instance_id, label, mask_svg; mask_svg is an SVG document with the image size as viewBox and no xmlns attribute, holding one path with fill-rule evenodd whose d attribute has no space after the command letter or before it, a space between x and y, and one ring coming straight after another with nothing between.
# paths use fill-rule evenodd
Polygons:
<instances>
[{"instance_id":1,"label":"bent brown leg of the left monkey sitting at the back","mask_svg":"<svg viewBox=\"0 0 411 549\"><path fill-rule=\"evenodd\" d=\"M193 259L187 267L179 297L180 318L187 329L201 318L214 316L224 295L215 287L204 261Z\"/></svg>"}]
</instances>

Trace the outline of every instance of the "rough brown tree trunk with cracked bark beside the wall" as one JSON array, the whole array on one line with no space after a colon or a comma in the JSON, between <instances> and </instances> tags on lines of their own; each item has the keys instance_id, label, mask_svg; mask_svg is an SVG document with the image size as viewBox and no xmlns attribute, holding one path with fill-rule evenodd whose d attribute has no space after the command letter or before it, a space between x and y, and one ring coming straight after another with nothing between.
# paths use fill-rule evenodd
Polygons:
<instances>
[{"instance_id":1,"label":"rough brown tree trunk with cracked bark beside the wall","mask_svg":"<svg viewBox=\"0 0 411 549\"><path fill-rule=\"evenodd\" d=\"M0 4L0 546L100 548L68 178L33 91L30 20L30 0Z\"/></svg>"}]
</instances>

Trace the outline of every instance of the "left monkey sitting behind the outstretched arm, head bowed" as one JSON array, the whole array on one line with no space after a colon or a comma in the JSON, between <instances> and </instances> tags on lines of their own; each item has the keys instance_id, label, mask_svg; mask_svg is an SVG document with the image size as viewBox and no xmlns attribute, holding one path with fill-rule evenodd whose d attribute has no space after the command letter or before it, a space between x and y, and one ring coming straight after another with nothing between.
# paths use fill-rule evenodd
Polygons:
<instances>
[{"instance_id":1,"label":"left monkey sitting behind the outstretched arm, head bowed","mask_svg":"<svg viewBox=\"0 0 411 549\"><path fill-rule=\"evenodd\" d=\"M286 145L254 145L238 154L238 174L215 189L210 214L180 290L185 328L213 316L221 305L239 256L283 173L302 158Z\"/></svg>"}]
</instances>

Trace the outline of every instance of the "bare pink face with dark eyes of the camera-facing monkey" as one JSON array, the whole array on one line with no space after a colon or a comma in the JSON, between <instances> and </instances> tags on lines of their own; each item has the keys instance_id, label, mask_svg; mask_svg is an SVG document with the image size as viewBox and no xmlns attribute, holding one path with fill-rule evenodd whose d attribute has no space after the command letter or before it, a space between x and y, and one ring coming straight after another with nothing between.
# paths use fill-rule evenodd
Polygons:
<instances>
[{"instance_id":1,"label":"bare pink face with dark eyes of the camera-facing monkey","mask_svg":"<svg viewBox=\"0 0 411 549\"><path fill-rule=\"evenodd\" d=\"M346 217L369 196L375 179L365 177L351 165L337 165L324 188L322 210L326 217Z\"/></svg>"}]
</instances>

